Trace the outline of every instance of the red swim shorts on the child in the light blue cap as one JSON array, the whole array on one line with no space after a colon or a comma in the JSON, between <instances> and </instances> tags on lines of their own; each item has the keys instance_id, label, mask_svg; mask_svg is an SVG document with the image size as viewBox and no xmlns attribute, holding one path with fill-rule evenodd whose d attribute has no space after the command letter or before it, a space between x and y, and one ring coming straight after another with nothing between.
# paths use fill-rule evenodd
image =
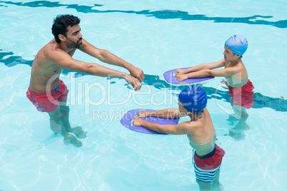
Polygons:
<instances>
[{"instance_id":1,"label":"red swim shorts on the child in the light blue cap","mask_svg":"<svg viewBox=\"0 0 287 191\"><path fill-rule=\"evenodd\" d=\"M248 80L246 85L242 86L241 88L233 88L228 86L227 83L226 86L229 89L228 93L231 96L231 103L233 105L241 105L246 109L251 108L254 102L254 86L251 81Z\"/></svg>"}]
</instances>

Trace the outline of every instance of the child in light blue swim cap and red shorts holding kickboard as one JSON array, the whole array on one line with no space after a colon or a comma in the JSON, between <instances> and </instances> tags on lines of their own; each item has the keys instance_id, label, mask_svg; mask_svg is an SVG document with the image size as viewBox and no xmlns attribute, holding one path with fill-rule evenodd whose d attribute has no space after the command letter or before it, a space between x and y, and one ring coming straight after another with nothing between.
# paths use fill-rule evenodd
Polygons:
<instances>
[{"instance_id":1,"label":"child in light blue swim cap and red shorts holding kickboard","mask_svg":"<svg viewBox=\"0 0 287 191\"><path fill-rule=\"evenodd\" d=\"M241 58L247 50L248 42L244 36L234 35L228 38L225 43L224 59L213 63L202 63L187 69L175 71L178 81L187 78L203 78L207 76L223 76L226 78L226 86L231 98L231 105L234 110L232 118L247 118L246 108L253 105L253 84L248 80L248 73ZM223 69L213 70L214 68Z\"/></svg>"}]
</instances>

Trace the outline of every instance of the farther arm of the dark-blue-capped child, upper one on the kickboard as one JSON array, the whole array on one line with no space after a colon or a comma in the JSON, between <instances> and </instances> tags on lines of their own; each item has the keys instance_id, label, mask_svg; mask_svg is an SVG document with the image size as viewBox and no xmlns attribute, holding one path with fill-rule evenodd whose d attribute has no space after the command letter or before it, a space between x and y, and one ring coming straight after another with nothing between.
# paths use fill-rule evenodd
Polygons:
<instances>
[{"instance_id":1,"label":"farther arm of the dark-blue-capped child, upper one on the kickboard","mask_svg":"<svg viewBox=\"0 0 287 191\"><path fill-rule=\"evenodd\" d=\"M178 109L164 109L164 110L155 110L155 111L141 111L136 117L145 118L148 116L158 117L158 118L166 118L166 119L174 119L180 118L183 116Z\"/></svg>"}]
</instances>

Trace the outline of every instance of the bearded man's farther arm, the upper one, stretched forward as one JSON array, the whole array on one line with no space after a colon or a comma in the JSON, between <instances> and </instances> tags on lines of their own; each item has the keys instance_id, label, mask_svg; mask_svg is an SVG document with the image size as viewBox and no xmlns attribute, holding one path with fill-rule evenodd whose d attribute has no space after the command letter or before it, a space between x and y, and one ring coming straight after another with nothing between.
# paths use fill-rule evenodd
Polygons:
<instances>
[{"instance_id":1,"label":"bearded man's farther arm, the upper one, stretched forward","mask_svg":"<svg viewBox=\"0 0 287 191\"><path fill-rule=\"evenodd\" d=\"M83 46L79 48L79 50L83 51L84 53L89 54L90 56L98 58L100 61L104 63L109 63L112 65L126 68L131 73L131 76L138 78L140 82L144 81L144 72L141 69L136 68L136 66L122 60L121 58L115 56L109 51L96 48L95 46L91 45L91 43L88 43L84 39L82 39L82 41L83 41Z\"/></svg>"}]
</instances>

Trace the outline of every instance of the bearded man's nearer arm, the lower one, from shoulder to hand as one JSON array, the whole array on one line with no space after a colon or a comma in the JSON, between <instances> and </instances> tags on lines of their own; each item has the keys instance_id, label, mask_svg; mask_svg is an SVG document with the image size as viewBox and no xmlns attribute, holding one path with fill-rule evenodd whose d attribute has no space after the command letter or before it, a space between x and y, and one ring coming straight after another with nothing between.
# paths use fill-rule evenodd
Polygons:
<instances>
[{"instance_id":1,"label":"bearded man's nearer arm, the lower one, from shoulder to hand","mask_svg":"<svg viewBox=\"0 0 287 191\"><path fill-rule=\"evenodd\" d=\"M139 83L139 81L133 76L129 76L126 73L106 68L97 63L86 63L84 61L78 61L74 58L71 58L68 53L62 50L49 52L49 60L51 63L55 63L66 70L89 73L94 76L124 78L126 82L134 87L135 91L141 89L141 83Z\"/></svg>"}]
</instances>

